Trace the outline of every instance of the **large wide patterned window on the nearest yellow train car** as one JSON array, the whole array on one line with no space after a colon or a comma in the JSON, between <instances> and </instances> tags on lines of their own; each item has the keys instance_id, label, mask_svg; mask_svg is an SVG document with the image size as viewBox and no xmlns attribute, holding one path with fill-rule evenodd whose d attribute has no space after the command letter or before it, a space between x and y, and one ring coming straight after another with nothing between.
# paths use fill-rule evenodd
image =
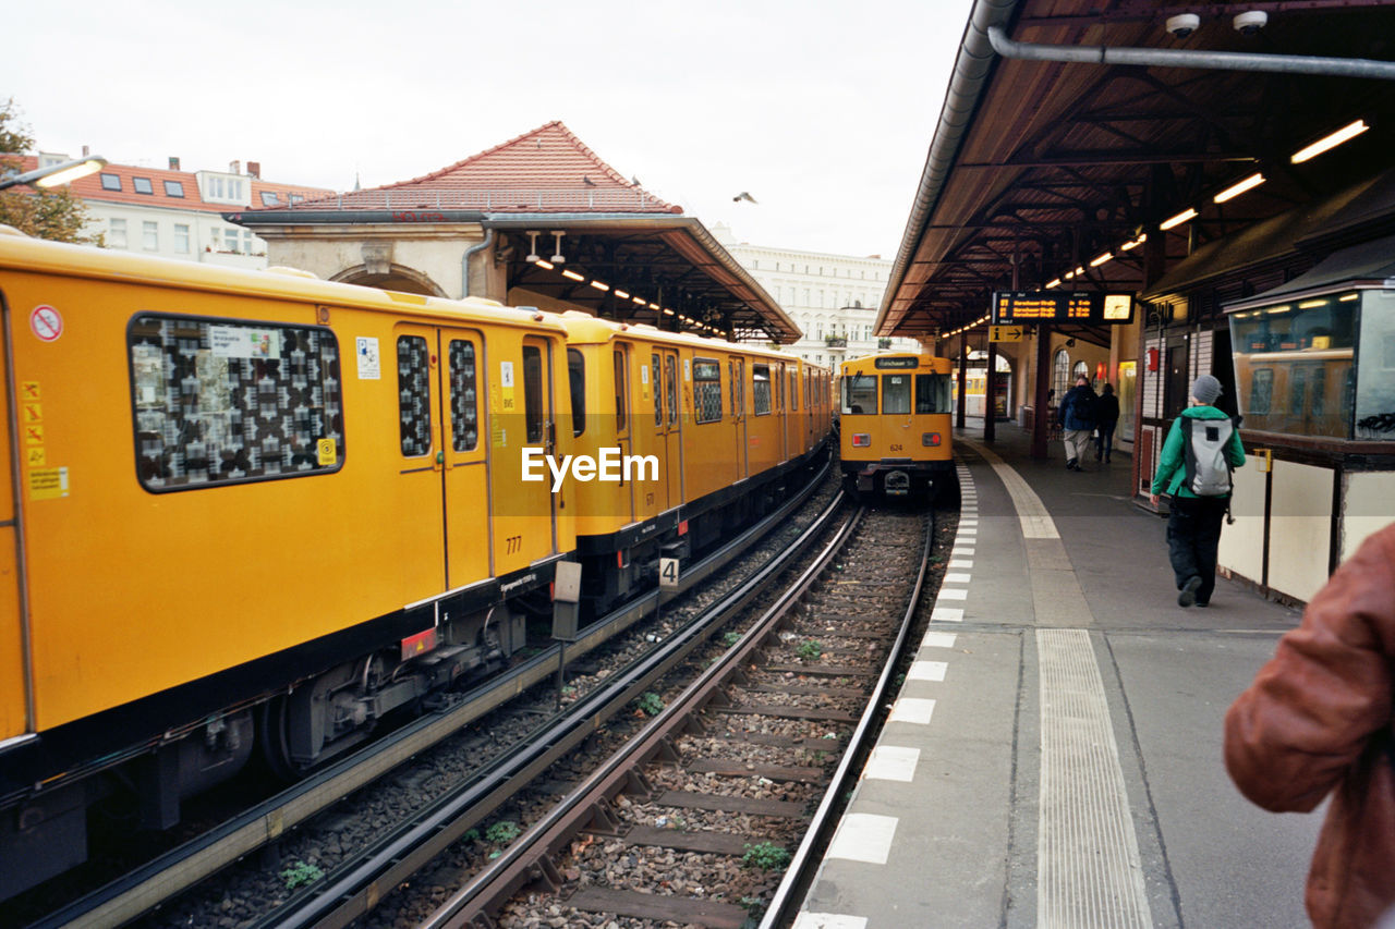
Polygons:
<instances>
[{"instance_id":1,"label":"large wide patterned window on the nearest yellow train car","mask_svg":"<svg viewBox=\"0 0 1395 929\"><path fill-rule=\"evenodd\" d=\"M127 349L146 490L322 474L343 463L339 345L328 329L140 315Z\"/></svg>"}]
</instances>

